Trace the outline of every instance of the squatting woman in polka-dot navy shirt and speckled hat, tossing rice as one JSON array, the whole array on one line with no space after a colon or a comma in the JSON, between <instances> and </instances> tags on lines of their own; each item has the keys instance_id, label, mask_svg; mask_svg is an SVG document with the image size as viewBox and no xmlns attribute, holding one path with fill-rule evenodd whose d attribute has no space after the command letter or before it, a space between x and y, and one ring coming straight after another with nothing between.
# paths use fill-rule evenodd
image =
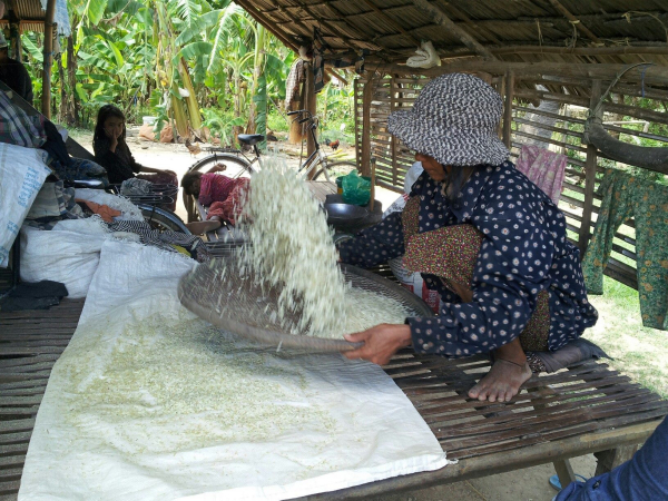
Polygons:
<instances>
[{"instance_id":1,"label":"squatting woman in polka-dot navy shirt and speckled hat, tossing rice","mask_svg":"<svg viewBox=\"0 0 668 501\"><path fill-rule=\"evenodd\" d=\"M501 97L471 75L429 82L389 130L422 163L403 213L338 245L341 261L371 267L403 255L442 298L436 317L406 318L346 336L348 358L385 364L401 347L448 357L491 353L469 391L509 401L531 377L527 352L557 351L598 317L579 250L552 200L508 161L497 136Z\"/></svg>"}]
</instances>

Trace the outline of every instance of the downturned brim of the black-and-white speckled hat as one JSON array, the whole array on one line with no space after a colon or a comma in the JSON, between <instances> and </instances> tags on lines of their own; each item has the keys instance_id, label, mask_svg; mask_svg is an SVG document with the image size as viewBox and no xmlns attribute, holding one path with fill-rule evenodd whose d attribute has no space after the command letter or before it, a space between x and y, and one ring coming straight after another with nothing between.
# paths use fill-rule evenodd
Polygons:
<instances>
[{"instance_id":1,"label":"downturned brim of the black-and-white speckled hat","mask_svg":"<svg viewBox=\"0 0 668 501\"><path fill-rule=\"evenodd\" d=\"M429 155L442 165L499 165L510 155L505 145L493 132L434 127L411 110L391 114L387 117L387 129L410 149Z\"/></svg>"}]
</instances>

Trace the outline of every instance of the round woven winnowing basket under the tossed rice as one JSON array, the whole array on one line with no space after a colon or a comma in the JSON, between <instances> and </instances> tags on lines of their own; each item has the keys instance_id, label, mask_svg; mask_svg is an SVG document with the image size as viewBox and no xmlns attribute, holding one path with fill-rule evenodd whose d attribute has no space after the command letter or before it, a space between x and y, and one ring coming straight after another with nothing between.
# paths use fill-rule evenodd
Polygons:
<instances>
[{"instance_id":1,"label":"round woven winnowing basket under the tossed rice","mask_svg":"<svg viewBox=\"0 0 668 501\"><path fill-rule=\"evenodd\" d=\"M281 291L257 285L252 273L244 272L225 258L212 266L199 265L181 277L178 297L181 304L218 328L271 346L299 348L310 352L341 352L358 344L291 334L272 312L277 310ZM353 287L375 292L401 303L411 316L433 316L430 307L405 288L373 273L351 265L341 265L346 282ZM223 269L225 274L223 276ZM288 323L295 325L299 312L293 312Z\"/></svg>"}]
</instances>

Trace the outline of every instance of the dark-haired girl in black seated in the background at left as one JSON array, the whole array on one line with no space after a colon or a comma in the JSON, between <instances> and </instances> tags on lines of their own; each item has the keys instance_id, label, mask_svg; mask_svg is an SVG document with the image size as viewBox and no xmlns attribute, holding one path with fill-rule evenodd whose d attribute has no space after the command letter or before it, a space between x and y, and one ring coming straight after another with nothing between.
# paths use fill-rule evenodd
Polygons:
<instances>
[{"instance_id":1,"label":"dark-haired girl in black seated in the background at left","mask_svg":"<svg viewBox=\"0 0 668 501\"><path fill-rule=\"evenodd\" d=\"M114 105L105 105L98 111L92 136L92 149L98 164L107 169L109 183L119 185L138 177L158 185L178 186L178 177L171 170L160 170L138 164L125 140L125 115Z\"/></svg>"}]
</instances>

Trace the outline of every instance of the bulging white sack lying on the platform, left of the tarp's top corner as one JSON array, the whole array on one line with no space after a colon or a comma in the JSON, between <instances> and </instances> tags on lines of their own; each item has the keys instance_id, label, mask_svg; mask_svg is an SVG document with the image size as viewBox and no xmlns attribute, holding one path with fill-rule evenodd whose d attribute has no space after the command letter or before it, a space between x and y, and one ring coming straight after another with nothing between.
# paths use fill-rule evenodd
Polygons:
<instances>
[{"instance_id":1,"label":"bulging white sack lying on the platform, left of the tarp's top corner","mask_svg":"<svg viewBox=\"0 0 668 501\"><path fill-rule=\"evenodd\" d=\"M86 297L100 262L102 234L21 228L21 279L65 284L69 297Z\"/></svg>"}]
</instances>

